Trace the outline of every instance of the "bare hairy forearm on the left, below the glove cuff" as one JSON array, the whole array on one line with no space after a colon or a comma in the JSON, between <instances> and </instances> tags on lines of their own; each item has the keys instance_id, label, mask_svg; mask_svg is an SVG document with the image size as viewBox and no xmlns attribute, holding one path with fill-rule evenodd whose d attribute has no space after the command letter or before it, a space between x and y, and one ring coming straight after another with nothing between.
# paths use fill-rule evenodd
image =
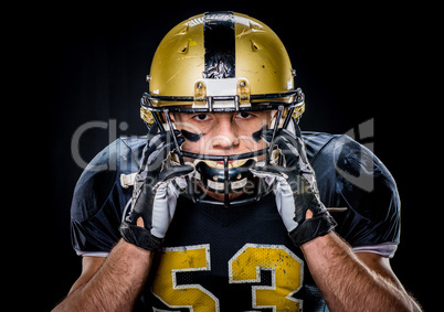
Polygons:
<instances>
[{"instance_id":1,"label":"bare hairy forearm on the left, below the glove cuff","mask_svg":"<svg viewBox=\"0 0 444 312\"><path fill-rule=\"evenodd\" d=\"M53 311L130 311L151 260L152 252L121 239L95 276Z\"/></svg>"}]
</instances>

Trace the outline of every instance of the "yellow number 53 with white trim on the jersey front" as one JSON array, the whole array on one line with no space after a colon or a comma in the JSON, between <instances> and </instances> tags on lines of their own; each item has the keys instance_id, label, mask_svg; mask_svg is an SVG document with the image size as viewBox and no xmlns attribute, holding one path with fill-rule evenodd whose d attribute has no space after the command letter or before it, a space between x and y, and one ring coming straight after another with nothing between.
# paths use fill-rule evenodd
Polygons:
<instances>
[{"instance_id":1,"label":"yellow number 53 with white trim on the jersey front","mask_svg":"<svg viewBox=\"0 0 444 312\"><path fill-rule=\"evenodd\" d=\"M219 311L219 300L200 284L178 286L177 272L211 270L210 245L163 248L152 293L169 308ZM230 283L261 281L261 270L272 272L272 286L252 286L252 308L299 311L292 295L303 284L303 261L282 245L246 244L229 261Z\"/></svg>"}]
</instances>

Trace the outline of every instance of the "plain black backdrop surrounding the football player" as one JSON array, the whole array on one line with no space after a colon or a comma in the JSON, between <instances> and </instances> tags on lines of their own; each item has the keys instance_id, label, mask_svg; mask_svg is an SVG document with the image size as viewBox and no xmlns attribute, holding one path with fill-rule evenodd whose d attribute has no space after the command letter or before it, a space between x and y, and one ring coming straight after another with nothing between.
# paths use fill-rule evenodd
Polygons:
<instances>
[{"instance_id":1,"label":"plain black backdrop surrounding the football player","mask_svg":"<svg viewBox=\"0 0 444 312\"><path fill-rule=\"evenodd\" d=\"M28 130L20 135L21 128L14 128L15 154L23 158L15 172L20 187L13 193L27 213L10 213L13 218L8 218L14 226L27 220L19 226L25 240L12 236L27 261L19 270L24 275L11 281L21 298L19 305L50 310L81 273L81 257L70 240L71 198L82 173L71 153L76 129L91 121L117 126L114 133L112 127L95 128L81 137L85 161L109 143L109 136L144 135L139 98L147 90L145 76L162 36L191 15L233 10L269 25L287 47L297 71L295 84L306 95L303 130L345 133L373 119L373 136L362 142L374 146L397 180L402 202L401 245L392 267L420 303L432 306L442 278L434 256L440 250L434 224L440 205L434 198L440 194L431 190L434 183L426 173L441 170L432 166L437 146L432 149L424 141L433 132L433 121L420 115L430 105L419 87L427 55L426 32L417 20L426 17L413 4L349 3L65 3L19 14L15 25L27 28L13 36L11 60L18 61L6 60L19 86L19 123Z\"/></svg>"}]
</instances>

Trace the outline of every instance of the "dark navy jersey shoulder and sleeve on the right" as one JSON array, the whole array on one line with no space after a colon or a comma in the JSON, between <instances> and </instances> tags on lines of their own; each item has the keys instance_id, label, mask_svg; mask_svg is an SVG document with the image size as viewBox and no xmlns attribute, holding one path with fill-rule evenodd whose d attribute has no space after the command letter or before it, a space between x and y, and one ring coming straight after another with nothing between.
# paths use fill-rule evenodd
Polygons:
<instances>
[{"instance_id":1,"label":"dark navy jersey shoulder and sleeve on the right","mask_svg":"<svg viewBox=\"0 0 444 312\"><path fill-rule=\"evenodd\" d=\"M400 198L389 170L348 136L305 132L304 141L323 203L347 208L331 212L336 232L356 252L392 257L400 239Z\"/></svg>"}]
</instances>

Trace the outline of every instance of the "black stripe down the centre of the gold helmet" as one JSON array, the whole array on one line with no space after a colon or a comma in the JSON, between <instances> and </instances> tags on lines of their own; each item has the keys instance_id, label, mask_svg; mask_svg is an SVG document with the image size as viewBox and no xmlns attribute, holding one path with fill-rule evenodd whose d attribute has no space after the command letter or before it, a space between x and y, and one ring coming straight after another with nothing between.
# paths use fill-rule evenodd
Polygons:
<instances>
[{"instance_id":1,"label":"black stripe down the centre of the gold helmet","mask_svg":"<svg viewBox=\"0 0 444 312\"><path fill-rule=\"evenodd\" d=\"M207 12L203 17L205 69L203 78L235 77L233 12Z\"/></svg>"}]
</instances>

